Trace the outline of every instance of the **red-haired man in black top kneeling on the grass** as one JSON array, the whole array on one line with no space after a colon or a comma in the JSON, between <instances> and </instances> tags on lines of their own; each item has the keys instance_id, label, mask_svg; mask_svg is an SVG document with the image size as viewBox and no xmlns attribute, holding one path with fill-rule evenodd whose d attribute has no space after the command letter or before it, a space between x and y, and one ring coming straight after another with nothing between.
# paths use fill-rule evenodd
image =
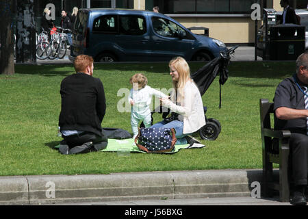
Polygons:
<instances>
[{"instance_id":1,"label":"red-haired man in black top kneeling on the grass","mask_svg":"<svg viewBox=\"0 0 308 219\"><path fill-rule=\"evenodd\" d=\"M74 61L76 73L61 82L61 112L59 127L64 141L60 143L63 154L100 151L107 146L101 122L106 103L103 83L93 75L93 59L78 55Z\"/></svg>"}]
</instances>

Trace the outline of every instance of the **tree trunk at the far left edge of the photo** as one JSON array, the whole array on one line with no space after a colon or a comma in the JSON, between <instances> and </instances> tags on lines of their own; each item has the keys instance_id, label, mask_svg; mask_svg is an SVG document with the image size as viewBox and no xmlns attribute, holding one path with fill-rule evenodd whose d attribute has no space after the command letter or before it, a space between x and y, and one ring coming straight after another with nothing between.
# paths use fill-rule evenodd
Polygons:
<instances>
[{"instance_id":1,"label":"tree trunk at the far left edge of the photo","mask_svg":"<svg viewBox=\"0 0 308 219\"><path fill-rule=\"evenodd\" d=\"M0 3L0 74L13 75L14 68L14 34L12 21L14 16L14 0L1 1Z\"/></svg>"}]
</instances>

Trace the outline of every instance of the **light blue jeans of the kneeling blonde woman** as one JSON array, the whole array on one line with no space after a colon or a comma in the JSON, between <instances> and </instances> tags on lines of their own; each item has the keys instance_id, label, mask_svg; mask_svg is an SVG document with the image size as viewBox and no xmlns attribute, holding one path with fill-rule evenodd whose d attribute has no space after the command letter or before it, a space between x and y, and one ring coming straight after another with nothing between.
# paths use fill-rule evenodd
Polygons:
<instances>
[{"instance_id":1,"label":"light blue jeans of the kneeling blonde woman","mask_svg":"<svg viewBox=\"0 0 308 219\"><path fill-rule=\"evenodd\" d=\"M184 126L183 120L173 120L171 122L162 120L152 125L151 128L161 128L161 127L167 129L174 128L175 137L177 138L177 142L175 144L188 144L185 138L185 136L187 136L188 134L183 134L183 126Z\"/></svg>"}]
</instances>

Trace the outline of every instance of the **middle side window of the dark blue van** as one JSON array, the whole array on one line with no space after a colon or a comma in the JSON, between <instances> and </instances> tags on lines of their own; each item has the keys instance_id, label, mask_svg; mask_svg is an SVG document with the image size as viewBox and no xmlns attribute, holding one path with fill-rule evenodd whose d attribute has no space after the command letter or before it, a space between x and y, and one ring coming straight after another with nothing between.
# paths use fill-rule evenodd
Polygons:
<instances>
[{"instance_id":1,"label":"middle side window of the dark blue van","mask_svg":"<svg viewBox=\"0 0 308 219\"><path fill-rule=\"evenodd\" d=\"M143 35L146 33L146 21L143 16L127 16L119 17L120 34L125 35Z\"/></svg>"}]
</instances>

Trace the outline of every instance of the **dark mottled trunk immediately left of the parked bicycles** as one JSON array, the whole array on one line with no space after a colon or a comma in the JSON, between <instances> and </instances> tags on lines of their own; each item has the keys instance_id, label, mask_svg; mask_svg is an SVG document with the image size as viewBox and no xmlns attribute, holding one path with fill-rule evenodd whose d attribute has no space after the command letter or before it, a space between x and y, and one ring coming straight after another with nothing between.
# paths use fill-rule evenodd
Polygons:
<instances>
[{"instance_id":1,"label":"dark mottled trunk immediately left of the parked bicycles","mask_svg":"<svg viewBox=\"0 0 308 219\"><path fill-rule=\"evenodd\" d=\"M34 0L17 0L16 63L36 63Z\"/></svg>"}]
</instances>

